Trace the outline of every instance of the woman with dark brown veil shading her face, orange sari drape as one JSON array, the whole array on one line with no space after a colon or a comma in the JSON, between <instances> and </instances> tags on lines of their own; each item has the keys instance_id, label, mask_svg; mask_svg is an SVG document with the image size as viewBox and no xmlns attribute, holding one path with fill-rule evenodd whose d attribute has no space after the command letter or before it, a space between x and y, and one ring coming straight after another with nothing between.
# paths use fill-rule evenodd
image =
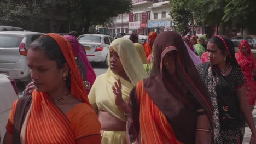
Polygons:
<instances>
[{"instance_id":1,"label":"woman with dark brown veil shading her face, orange sari drape","mask_svg":"<svg viewBox=\"0 0 256 144\"><path fill-rule=\"evenodd\" d=\"M211 143L210 95L181 36L163 32L154 46L152 73L130 94L130 142Z\"/></svg>"}]
</instances>

